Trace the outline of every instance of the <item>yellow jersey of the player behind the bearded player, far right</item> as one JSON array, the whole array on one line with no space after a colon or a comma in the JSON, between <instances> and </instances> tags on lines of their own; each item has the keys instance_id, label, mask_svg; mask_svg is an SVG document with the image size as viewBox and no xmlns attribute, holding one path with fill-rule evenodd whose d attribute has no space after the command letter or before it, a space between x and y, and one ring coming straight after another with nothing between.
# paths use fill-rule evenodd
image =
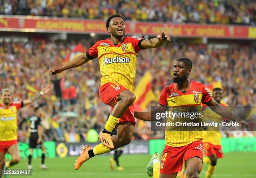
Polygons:
<instances>
[{"instance_id":1,"label":"yellow jersey of the player behind the bearded player, far right","mask_svg":"<svg viewBox=\"0 0 256 178\"><path fill-rule=\"evenodd\" d=\"M225 104L220 103L221 105L223 105L224 107L226 107ZM209 107L205 107L204 109L204 120L206 122L215 122L215 123L220 123L222 120L222 116L220 116L219 114L215 113L214 111L212 111ZM204 140L203 142L210 142L212 145L221 145L220 144L220 139L221 139L221 135L220 135L220 131L211 131L212 127L208 127L207 131L203 132L203 136L204 136Z\"/></svg>"}]
</instances>

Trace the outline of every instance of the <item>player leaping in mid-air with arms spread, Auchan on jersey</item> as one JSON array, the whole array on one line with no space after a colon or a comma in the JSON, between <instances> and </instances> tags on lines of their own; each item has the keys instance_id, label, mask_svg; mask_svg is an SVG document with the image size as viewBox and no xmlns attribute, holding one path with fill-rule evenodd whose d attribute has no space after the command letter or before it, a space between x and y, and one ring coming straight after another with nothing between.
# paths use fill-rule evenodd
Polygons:
<instances>
[{"instance_id":1,"label":"player leaping in mid-air with arms spread, Auchan on jersey","mask_svg":"<svg viewBox=\"0 0 256 178\"><path fill-rule=\"evenodd\" d=\"M76 170L93 156L108 153L131 142L135 125L133 102L136 96L133 89L137 54L141 49L158 48L165 41L170 41L165 32L151 40L124 36L125 19L118 14L108 18L106 28L110 38L97 41L84 55L74 58L64 66L51 69L51 73L56 75L98 57L102 74L100 99L110 105L112 111L104 130L99 134L102 143L93 149L87 145L82 148L82 153L75 163ZM118 135L110 137L114 127L118 130Z\"/></svg>"}]
</instances>

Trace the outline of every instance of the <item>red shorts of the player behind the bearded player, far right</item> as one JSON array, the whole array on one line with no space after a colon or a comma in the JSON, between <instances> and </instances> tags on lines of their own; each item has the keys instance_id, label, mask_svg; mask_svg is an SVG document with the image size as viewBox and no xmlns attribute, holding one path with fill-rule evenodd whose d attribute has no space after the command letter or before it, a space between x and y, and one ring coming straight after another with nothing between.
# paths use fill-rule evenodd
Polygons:
<instances>
[{"instance_id":1,"label":"red shorts of the player behind the bearded player, far right","mask_svg":"<svg viewBox=\"0 0 256 178\"><path fill-rule=\"evenodd\" d=\"M223 151L221 145L212 145L210 142L204 142L205 156L216 155L217 158L223 158Z\"/></svg>"}]
</instances>

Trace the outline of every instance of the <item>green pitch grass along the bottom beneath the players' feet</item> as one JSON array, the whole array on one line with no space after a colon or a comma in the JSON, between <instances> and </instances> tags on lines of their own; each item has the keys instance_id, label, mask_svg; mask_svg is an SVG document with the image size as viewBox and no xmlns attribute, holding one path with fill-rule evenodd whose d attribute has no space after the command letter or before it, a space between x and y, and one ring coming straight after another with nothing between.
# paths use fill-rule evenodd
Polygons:
<instances>
[{"instance_id":1,"label":"green pitch grass along the bottom beneath the players' feet","mask_svg":"<svg viewBox=\"0 0 256 178\"><path fill-rule=\"evenodd\" d=\"M101 155L74 170L76 157L46 158L49 170L41 170L41 159L33 159L32 176L10 176L8 178L148 178L146 165L151 155L122 155L120 164L123 171L110 170L111 155ZM12 169L27 169L27 159L21 159ZM208 165L204 165L200 178L205 178ZM212 178L256 178L256 153L226 153L218 160Z\"/></svg>"}]
</instances>

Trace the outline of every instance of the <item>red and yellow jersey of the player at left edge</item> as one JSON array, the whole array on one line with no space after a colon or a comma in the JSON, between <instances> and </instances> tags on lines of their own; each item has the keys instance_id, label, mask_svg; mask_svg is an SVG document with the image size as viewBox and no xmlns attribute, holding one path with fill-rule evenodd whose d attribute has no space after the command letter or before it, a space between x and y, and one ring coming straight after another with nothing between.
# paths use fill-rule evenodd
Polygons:
<instances>
[{"instance_id":1,"label":"red and yellow jersey of the player at left edge","mask_svg":"<svg viewBox=\"0 0 256 178\"><path fill-rule=\"evenodd\" d=\"M9 107L0 104L0 142L17 140L17 111L22 102L12 102Z\"/></svg>"}]
</instances>

